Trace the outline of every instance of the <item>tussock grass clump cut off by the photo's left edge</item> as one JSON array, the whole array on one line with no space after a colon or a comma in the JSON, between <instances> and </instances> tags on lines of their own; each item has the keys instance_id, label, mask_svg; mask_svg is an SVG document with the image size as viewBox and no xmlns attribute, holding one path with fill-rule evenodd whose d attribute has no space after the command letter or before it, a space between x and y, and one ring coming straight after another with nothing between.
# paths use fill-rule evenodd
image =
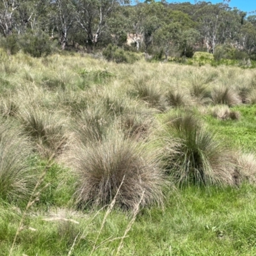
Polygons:
<instances>
[{"instance_id":1,"label":"tussock grass clump cut off by the photo's left edge","mask_svg":"<svg viewBox=\"0 0 256 256\"><path fill-rule=\"evenodd\" d=\"M0 197L17 201L28 198L35 173L29 166L29 143L12 125L0 124Z\"/></svg>"}]
</instances>

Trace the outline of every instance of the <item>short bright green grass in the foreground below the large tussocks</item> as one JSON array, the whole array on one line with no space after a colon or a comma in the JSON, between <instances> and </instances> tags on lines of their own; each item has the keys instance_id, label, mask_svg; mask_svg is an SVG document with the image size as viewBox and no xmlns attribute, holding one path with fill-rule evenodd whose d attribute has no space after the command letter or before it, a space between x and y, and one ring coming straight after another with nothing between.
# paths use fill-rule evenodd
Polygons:
<instances>
[{"instance_id":1,"label":"short bright green grass in the foreground below the large tussocks","mask_svg":"<svg viewBox=\"0 0 256 256\"><path fill-rule=\"evenodd\" d=\"M176 191L168 196L164 209L143 209L138 214L129 237L125 238L121 255L254 255L255 202L256 189L246 184L239 189L209 191L191 186ZM0 209L0 254L6 255L19 213L13 205L3 202ZM54 209L51 210L54 212ZM27 229L20 233L14 255L67 255L74 241L72 239L79 232L84 232L86 236L75 247L74 255L91 252L104 211L92 222L92 215L75 212L72 219L79 224L71 223L70 226L65 221L44 221L44 214L29 214L26 225L36 228L36 231ZM111 212L97 245L106 239L122 236L130 218L124 212ZM60 234L60 230L64 231ZM93 255L111 253L119 242L119 239L107 241Z\"/></svg>"}]
</instances>

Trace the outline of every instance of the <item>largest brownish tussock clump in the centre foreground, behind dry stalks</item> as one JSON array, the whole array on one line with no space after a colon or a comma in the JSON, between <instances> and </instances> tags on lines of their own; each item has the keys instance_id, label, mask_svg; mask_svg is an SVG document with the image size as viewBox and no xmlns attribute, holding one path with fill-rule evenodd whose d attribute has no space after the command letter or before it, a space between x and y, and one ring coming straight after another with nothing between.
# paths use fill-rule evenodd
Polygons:
<instances>
[{"instance_id":1,"label":"largest brownish tussock clump in the centre foreground, behind dry stalks","mask_svg":"<svg viewBox=\"0 0 256 256\"><path fill-rule=\"evenodd\" d=\"M110 204L119 187L116 204L124 209L134 209L143 191L141 207L163 204L166 180L157 155L157 150L148 150L117 131L109 132L101 143L74 144L66 159L78 177L77 204Z\"/></svg>"}]
</instances>

